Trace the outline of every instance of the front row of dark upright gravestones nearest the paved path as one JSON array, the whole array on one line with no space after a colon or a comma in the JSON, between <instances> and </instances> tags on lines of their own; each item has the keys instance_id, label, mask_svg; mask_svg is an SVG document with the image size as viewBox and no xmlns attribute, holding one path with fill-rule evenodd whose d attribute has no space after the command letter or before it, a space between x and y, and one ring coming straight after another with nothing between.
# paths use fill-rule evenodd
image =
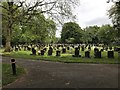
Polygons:
<instances>
[{"instance_id":1,"label":"front row of dark upright gravestones nearest the paved path","mask_svg":"<svg viewBox=\"0 0 120 90\"><path fill-rule=\"evenodd\" d=\"M38 51L38 55L44 55L46 51L47 51L47 48L44 48L43 50ZM62 49L62 53L66 53L65 48ZM52 54L53 54L53 48L49 47L48 55L51 56ZM61 51L56 50L56 56L60 56L60 54L61 54ZM31 55L36 55L35 48L32 48L32 54ZM79 48L77 48L77 47L75 48L74 55L72 55L72 56L73 57L81 57ZM101 51L99 51L98 48L94 48L94 56L95 56L95 58L101 58L102 57ZM108 56L108 58L114 58L114 51L108 51L107 56ZM90 51L85 51L85 57L90 58Z\"/></svg>"}]
</instances>

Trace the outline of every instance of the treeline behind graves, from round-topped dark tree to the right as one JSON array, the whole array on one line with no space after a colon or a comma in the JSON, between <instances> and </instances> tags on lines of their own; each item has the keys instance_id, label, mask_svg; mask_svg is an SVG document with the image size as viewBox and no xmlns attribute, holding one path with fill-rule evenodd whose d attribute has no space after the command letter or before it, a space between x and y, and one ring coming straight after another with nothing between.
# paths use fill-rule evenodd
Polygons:
<instances>
[{"instance_id":1,"label":"treeline behind graves, from round-topped dark tree to the right","mask_svg":"<svg viewBox=\"0 0 120 90\"><path fill-rule=\"evenodd\" d=\"M118 44L116 34L113 26L109 24L81 29L77 23L68 22L63 25L60 42Z\"/></svg>"}]
</instances>

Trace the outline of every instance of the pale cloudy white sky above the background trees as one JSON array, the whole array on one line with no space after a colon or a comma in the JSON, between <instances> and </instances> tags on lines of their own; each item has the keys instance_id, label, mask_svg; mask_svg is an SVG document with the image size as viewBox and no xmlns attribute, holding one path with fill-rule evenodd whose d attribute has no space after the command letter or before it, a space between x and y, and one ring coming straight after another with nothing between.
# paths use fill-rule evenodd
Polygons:
<instances>
[{"instance_id":1,"label":"pale cloudy white sky above the background trees","mask_svg":"<svg viewBox=\"0 0 120 90\"><path fill-rule=\"evenodd\" d=\"M107 10L112 5L113 3L107 3L107 0L80 0L80 6L74 10L76 21L81 28L93 25L112 24L107 15ZM61 30L57 30L56 36L60 37L60 34Z\"/></svg>"}]
</instances>

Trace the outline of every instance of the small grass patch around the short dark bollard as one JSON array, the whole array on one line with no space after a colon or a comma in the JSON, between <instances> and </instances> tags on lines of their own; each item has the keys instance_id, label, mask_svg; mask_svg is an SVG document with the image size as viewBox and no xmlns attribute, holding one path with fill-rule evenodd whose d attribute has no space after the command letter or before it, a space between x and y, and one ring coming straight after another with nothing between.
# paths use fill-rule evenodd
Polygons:
<instances>
[{"instance_id":1,"label":"small grass patch around the short dark bollard","mask_svg":"<svg viewBox=\"0 0 120 90\"><path fill-rule=\"evenodd\" d=\"M2 85L7 85L14 82L16 79L20 78L25 70L17 66L17 75L12 75L12 69L10 64L2 64Z\"/></svg>"}]
</instances>

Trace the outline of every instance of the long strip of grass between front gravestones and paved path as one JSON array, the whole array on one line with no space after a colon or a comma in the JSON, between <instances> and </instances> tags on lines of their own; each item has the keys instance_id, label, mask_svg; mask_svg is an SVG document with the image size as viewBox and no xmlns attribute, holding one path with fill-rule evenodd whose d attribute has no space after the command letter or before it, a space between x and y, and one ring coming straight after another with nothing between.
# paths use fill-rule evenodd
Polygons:
<instances>
[{"instance_id":1,"label":"long strip of grass between front gravestones and paved path","mask_svg":"<svg viewBox=\"0 0 120 90\"><path fill-rule=\"evenodd\" d=\"M31 51L13 51L11 53L3 53L3 56L10 56L13 58L23 58L23 59L33 59L33 60L46 60L64 63L99 63L99 64L118 64L120 59L118 59L118 52L114 52L114 58L107 58L107 51L102 52L102 58L94 58L93 50L90 51L91 58L85 58L84 51L80 51L82 57L72 57L74 51L67 51L66 54L61 54L61 56L55 56L55 51L52 56L48 56L47 52L44 56L30 55Z\"/></svg>"}]
</instances>

